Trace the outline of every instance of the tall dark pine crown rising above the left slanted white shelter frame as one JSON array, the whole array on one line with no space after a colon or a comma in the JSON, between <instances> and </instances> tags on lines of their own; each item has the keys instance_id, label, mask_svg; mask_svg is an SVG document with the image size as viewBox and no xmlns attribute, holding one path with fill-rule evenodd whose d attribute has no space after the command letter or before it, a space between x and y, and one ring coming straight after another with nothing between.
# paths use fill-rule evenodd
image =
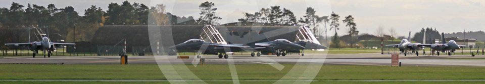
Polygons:
<instances>
[{"instance_id":1,"label":"tall dark pine crown rising above the left slanted white shelter frame","mask_svg":"<svg viewBox=\"0 0 485 84\"><path fill-rule=\"evenodd\" d=\"M214 3L206 1L203 2L199 5L199 9L201 9L201 16L197 21L199 24L211 24L211 25L218 25L219 23L217 22L219 19L222 19L219 16L216 16L216 10L217 8L214 8Z\"/></svg>"}]
</instances>

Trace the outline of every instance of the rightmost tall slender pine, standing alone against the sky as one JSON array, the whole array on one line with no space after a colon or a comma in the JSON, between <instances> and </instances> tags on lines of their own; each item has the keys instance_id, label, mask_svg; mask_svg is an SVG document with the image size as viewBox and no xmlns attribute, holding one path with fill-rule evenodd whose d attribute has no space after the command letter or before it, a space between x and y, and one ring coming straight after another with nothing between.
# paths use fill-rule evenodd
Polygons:
<instances>
[{"instance_id":1,"label":"rightmost tall slender pine, standing alone against the sky","mask_svg":"<svg viewBox=\"0 0 485 84\"><path fill-rule=\"evenodd\" d=\"M350 30L349 30L350 44L351 44L350 47L353 48L354 47L354 36L359 35L359 31L355 27L357 24L354 22L354 17L352 17L352 15L345 17L345 19L342 20L342 21L347 23L345 26L348 26L350 28Z\"/></svg>"}]
</instances>

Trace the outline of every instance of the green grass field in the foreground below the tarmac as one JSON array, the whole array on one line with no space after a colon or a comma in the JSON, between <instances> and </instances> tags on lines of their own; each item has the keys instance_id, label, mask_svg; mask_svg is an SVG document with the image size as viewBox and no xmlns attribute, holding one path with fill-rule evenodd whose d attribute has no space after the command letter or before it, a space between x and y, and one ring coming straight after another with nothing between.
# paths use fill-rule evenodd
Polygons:
<instances>
[{"instance_id":1,"label":"green grass field in the foreground below the tarmac","mask_svg":"<svg viewBox=\"0 0 485 84\"><path fill-rule=\"evenodd\" d=\"M283 64L281 71L267 64L236 64L241 83L272 83L280 79L294 64ZM227 64L187 66L208 83L232 83ZM311 67L311 66L309 66ZM396 79L485 79L485 67L475 66L368 66L323 65L312 83L437 83L437 81L392 81ZM0 64L0 79L166 79L157 64ZM213 79L216 79L215 81ZM254 80L261 81L254 81ZM352 80L390 81L352 81ZM227 81L220 81L227 80ZM341 81L342 80L342 81ZM31 83L33 81L0 81L0 83ZM46 81L36 83L66 83ZM153 83L142 82L142 83ZM168 81L158 81L168 83ZM484 81L439 81L441 83L484 83ZM120 83L110 81L75 81L69 83ZM130 81L121 82L130 83Z\"/></svg>"}]
</instances>

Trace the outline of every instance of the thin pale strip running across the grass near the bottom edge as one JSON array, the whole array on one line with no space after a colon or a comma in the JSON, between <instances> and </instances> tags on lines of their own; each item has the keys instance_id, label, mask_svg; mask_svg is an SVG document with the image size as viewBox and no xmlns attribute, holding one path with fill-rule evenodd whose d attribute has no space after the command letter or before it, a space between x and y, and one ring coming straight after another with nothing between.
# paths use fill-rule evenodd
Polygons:
<instances>
[{"instance_id":1,"label":"thin pale strip running across the grass near the bottom edge","mask_svg":"<svg viewBox=\"0 0 485 84\"><path fill-rule=\"evenodd\" d=\"M203 81L232 81L232 79L202 79ZM0 79L0 81L200 81L199 79ZM337 80L290 80L290 79L241 79L241 81L485 81L485 79L337 79Z\"/></svg>"}]
</instances>

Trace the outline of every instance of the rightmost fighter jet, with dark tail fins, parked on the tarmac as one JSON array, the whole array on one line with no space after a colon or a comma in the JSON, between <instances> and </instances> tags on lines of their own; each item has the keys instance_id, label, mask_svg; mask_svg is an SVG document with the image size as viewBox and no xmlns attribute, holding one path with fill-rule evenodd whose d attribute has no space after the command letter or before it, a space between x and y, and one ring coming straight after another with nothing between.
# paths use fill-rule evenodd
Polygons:
<instances>
[{"instance_id":1,"label":"rightmost fighter jet, with dark tail fins, parked on the tarmac","mask_svg":"<svg viewBox=\"0 0 485 84\"><path fill-rule=\"evenodd\" d=\"M430 47L433 50L437 51L437 54L440 55L440 52L448 51L448 55L451 55L451 52L455 52L456 49L460 49L460 47L464 47L465 45L458 45L455 40L450 40L446 42L445 40L445 33L441 33L441 40L442 43L439 44L432 44Z\"/></svg>"}]
</instances>

